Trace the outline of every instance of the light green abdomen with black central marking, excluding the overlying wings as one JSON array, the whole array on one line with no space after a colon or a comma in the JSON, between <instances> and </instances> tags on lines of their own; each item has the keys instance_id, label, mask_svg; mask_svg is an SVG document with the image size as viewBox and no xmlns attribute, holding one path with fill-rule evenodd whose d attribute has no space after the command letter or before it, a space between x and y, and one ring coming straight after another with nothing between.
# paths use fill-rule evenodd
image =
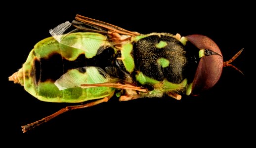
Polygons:
<instances>
[{"instance_id":1,"label":"light green abdomen with black central marking, excluding the overlying wings","mask_svg":"<svg viewBox=\"0 0 256 148\"><path fill-rule=\"evenodd\" d=\"M82 34L82 33L81 33ZM95 35L104 39L103 35L95 33L84 33L83 37ZM73 36L72 34L69 36ZM74 35L75 36L75 35ZM77 36L77 35L76 35ZM82 43L82 42L81 42ZM91 43L95 44L95 43ZM27 61L23 64L22 69L18 71L19 82L24 86L25 90L34 97L45 102L69 102L77 103L92 99L100 99L111 95L115 89L110 87L91 87L91 88L67 88L59 90L54 82L61 77L61 75L72 71L78 74L82 80L85 80L88 75L97 75L95 67L112 66L111 58L113 58L115 51L113 48L105 49L102 54L97 55L100 43L93 48L89 46L88 52L90 56L86 56L87 50L72 48L67 45L60 44L53 37L48 37L35 45L35 48L30 52ZM102 43L102 46L104 43ZM85 46L86 47L86 46ZM91 51L95 50L95 51ZM92 55L92 53L94 53ZM103 64L98 59L107 59ZM90 67L86 71L76 70L78 68ZM98 73L96 81L89 80L90 83L102 83L106 78ZM87 81L85 81L87 82Z\"/></svg>"}]
</instances>

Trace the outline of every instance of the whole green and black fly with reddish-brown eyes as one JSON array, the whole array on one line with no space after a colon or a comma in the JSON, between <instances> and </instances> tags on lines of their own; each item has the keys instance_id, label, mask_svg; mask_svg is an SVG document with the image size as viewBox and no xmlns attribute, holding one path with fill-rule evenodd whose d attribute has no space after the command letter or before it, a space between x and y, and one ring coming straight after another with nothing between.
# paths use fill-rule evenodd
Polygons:
<instances>
[{"instance_id":1,"label":"whole green and black fly with reddish-brown eyes","mask_svg":"<svg viewBox=\"0 0 256 148\"><path fill-rule=\"evenodd\" d=\"M219 47L203 35L142 35L81 15L49 32L52 37L39 41L9 80L45 102L94 101L22 126L24 133L63 112L95 106L114 95L120 101L198 95L217 83L223 67L238 70L230 63L243 50L223 62Z\"/></svg>"}]
</instances>

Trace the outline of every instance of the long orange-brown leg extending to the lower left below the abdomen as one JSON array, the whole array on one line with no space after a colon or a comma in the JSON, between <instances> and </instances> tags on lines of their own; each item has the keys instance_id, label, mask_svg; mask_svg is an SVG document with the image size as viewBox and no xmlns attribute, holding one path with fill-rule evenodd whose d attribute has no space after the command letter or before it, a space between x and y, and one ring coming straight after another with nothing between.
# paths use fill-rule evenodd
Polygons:
<instances>
[{"instance_id":1,"label":"long orange-brown leg extending to the lower left below the abdomen","mask_svg":"<svg viewBox=\"0 0 256 148\"><path fill-rule=\"evenodd\" d=\"M108 102L108 100L112 97L109 96L109 97L105 97L103 99L100 99L100 100L97 100L97 101L94 101L94 102L90 102L90 103L87 103L87 104L84 104L84 105L78 105L78 106L68 106L66 108L63 108L49 116L46 116L45 118L41 119L41 120L38 120L36 122L33 122L33 123L30 123L28 125L24 125L24 126L21 126L22 127L22 131L23 133L27 132L28 130L36 127L36 126L39 126L40 124L42 123L45 123L47 121L49 121L50 119L56 117L57 115L60 115L61 113L64 113L66 111L72 111L72 110L76 110L76 109L83 109L83 108L87 108L87 107L92 107L92 106L95 106L97 104L100 104L102 102Z\"/></svg>"}]
</instances>

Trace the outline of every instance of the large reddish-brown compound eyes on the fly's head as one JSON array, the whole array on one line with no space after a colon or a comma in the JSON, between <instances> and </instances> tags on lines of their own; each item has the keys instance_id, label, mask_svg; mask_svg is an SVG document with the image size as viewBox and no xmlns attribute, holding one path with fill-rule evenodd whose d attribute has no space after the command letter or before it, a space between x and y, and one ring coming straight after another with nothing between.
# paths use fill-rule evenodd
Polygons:
<instances>
[{"instance_id":1,"label":"large reddish-brown compound eyes on the fly's head","mask_svg":"<svg viewBox=\"0 0 256 148\"><path fill-rule=\"evenodd\" d=\"M213 87L220 78L223 68L223 57L216 43L209 37L202 35L186 36L187 40L199 49L205 49L198 64L193 85L192 95Z\"/></svg>"}]
</instances>

